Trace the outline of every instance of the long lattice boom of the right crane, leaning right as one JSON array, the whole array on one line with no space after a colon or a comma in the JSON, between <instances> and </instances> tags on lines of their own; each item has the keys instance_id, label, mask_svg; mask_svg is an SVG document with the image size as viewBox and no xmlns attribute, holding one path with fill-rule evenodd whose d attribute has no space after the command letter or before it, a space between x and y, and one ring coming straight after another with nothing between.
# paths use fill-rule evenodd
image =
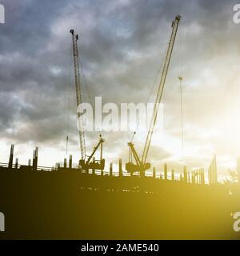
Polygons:
<instances>
[{"instance_id":1,"label":"long lattice boom of the right crane, leaning right","mask_svg":"<svg viewBox=\"0 0 240 256\"><path fill-rule=\"evenodd\" d=\"M175 42L176 34L178 31L178 24L180 22L180 19L181 19L180 15L176 16L176 18L172 24L172 28L173 28L172 34L171 34L169 46L168 46L168 49L166 52L166 58L165 58L164 66L163 66L163 70L162 70L162 77L161 77L160 84L158 87L157 98L154 103L154 113L153 113L151 121L150 121L150 128L149 128L148 134L146 136L146 142L145 142L144 150L142 153L142 163L146 162L147 154L148 154L148 151L150 148L151 138L154 133L154 126L156 124L156 120L157 120L157 116L158 116L158 108L159 108L159 104L162 99L162 92L163 92L163 88L164 88L164 85L166 82L166 75L167 75L169 64L170 64L170 58L171 58L171 55L172 55L172 52L174 49L174 42Z\"/></svg>"}]
</instances>

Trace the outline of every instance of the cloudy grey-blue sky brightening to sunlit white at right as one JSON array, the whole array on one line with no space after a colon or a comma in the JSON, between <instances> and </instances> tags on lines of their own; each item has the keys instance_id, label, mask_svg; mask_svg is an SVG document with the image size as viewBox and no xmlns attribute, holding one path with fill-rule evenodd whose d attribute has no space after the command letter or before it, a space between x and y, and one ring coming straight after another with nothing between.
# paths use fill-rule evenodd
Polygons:
<instances>
[{"instance_id":1,"label":"cloudy grey-blue sky brightening to sunlit white at right","mask_svg":"<svg viewBox=\"0 0 240 256\"><path fill-rule=\"evenodd\" d=\"M10 144L25 164L39 146L39 164L53 166L69 153L77 162L78 130L71 38L79 48L86 76L83 99L103 102L153 102L154 85L170 38L171 22L182 15L162 102L162 136L154 134L148 160L205 167L217 154L226 174L240 155L239 30L233 22L236 1L85 1L2 0L0 24L0 162ZM184 148L178 76L183 77ZM157 80L158 81L158 80ZM126 160L131 132L103 132L106 160ZM86 133L87 151L98 133ZM139 154L144 134L134 139Z\"/></svg>"}]
</instances>

